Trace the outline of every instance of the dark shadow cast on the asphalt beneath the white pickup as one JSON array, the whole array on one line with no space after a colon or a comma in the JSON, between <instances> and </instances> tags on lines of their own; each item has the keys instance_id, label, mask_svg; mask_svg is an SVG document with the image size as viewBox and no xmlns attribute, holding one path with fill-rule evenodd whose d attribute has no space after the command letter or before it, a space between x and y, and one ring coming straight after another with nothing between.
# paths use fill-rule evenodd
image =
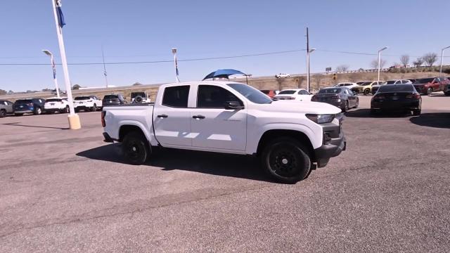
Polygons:
<instances>
[{"instance_id":1,"label":"dark shadow cast on the asphalt beneath the white pickup","mask_svg":"<svg viewBox=\"0 0 450 253\"><path fill-rule=\"evenodd\" d=\"M122 150L119 143L84 150L77 153L77 156L128 164L122 157ZM241 179L271 182L271 180L265 176L262 169L259 169L257 158L244 155L229 155L165 148L164 150L156 151L155 154L150 157L148 162L146 162L146 165L158 167L162 171L177 169L217 176L231 176Z\"/></svg>"}]
</instances>

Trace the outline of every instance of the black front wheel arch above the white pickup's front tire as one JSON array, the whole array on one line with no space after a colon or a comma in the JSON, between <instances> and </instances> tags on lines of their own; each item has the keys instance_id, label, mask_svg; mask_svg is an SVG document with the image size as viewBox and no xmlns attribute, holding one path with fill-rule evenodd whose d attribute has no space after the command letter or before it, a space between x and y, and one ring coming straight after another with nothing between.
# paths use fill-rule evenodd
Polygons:
<instances>
[{"instance_id":1,"label":"black front wheel arch above the white pickup's front tire","mask_svg":"<svg viewBox=\"0 0 450 253\"><path fill-rule=\"evenodd\" d=\"M265 145L269 143L269 141L279 137L292 137L295 140L299 141L300 143L302 143L302 145L304 145L308 149L311 160L314 160L314 148L308 136L301 131L285 130L285 129L271 129L265 131L264 134L262 134L261 138L259 138L257 155L260 155L262 153Z\"/></svg>"}]
</instances>

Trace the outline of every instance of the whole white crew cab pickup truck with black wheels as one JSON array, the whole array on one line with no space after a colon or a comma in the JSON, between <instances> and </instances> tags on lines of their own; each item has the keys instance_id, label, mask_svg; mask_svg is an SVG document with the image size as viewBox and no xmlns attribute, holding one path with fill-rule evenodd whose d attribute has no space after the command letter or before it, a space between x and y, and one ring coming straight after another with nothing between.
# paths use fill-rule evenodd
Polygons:
<instances>
[{"instance_id":1,"label":"whole white crew cab pickup truck with black wheels","mask_svg":"<svg viewBox=\"0 0 450 253\"><path fill-rule=\"evenodd\" d=\"M343 115L326 103L271 100L233 82L160 86L155 103L104 107L107 142L122 143L131 164L155 148L256 155L276 181L295 183L345 150Z\"/></svg>"}]
</instances>

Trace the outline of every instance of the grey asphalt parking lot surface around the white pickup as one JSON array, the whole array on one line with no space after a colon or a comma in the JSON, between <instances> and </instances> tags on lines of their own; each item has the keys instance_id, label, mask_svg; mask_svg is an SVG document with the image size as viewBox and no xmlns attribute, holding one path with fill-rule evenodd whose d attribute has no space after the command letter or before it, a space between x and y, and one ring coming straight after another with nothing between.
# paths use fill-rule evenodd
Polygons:
<instances>
[{"instance_id":1,"label":"grey asphalt parking lot surface around the white pickup","mask_svg":"<svg viewBox=\"0 0 450 253\"><path fill-rule=\"evenodd\" d=\"M360 101L347 150L295 185L235 155L125 164L100 112L0 119L0 252L450 252L450 97Z\"/></svg>"}]
</instances>

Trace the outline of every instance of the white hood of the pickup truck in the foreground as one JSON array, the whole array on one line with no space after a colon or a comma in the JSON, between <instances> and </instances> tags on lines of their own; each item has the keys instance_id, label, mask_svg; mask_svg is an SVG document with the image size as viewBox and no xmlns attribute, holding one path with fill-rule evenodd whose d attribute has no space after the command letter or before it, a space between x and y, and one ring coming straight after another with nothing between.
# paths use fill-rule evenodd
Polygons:
<instances>
[{"instance_id":1,"label":"white hood of the pickup truck in the foreground","mask_svg":"<svg viewBox=\"0 0 450 253\"><path fill-rule=\"evenodd\" d=\"M338 114L340 108L328 103L295 101L295 100L277 100L270 104L256 105L255 108L268 112L300 112L311 114Z\"/></svg>"}]
</instances>

